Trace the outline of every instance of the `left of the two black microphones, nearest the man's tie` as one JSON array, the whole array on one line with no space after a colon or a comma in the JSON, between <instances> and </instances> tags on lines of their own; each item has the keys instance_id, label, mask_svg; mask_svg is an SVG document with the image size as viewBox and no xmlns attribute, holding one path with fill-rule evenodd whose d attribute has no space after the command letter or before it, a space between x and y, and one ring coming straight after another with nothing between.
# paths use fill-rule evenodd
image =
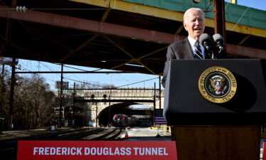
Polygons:
<instances>
[{"instance_id":1,"label":"left of the two black microphones, nearest the man's tie","mask_svg":"<svg viewBox=\"0 0 266 160\"><path fill-rule=\"evenodd\" d=\"M199 43L201 43L201 46L204 46L204 50L206 50L206 53L211 57L211 59L216 59L216 56L214 55L214 41L211 39L209 34L203 33L201 36L199 36Z\"/></svg>"}]
</instances>

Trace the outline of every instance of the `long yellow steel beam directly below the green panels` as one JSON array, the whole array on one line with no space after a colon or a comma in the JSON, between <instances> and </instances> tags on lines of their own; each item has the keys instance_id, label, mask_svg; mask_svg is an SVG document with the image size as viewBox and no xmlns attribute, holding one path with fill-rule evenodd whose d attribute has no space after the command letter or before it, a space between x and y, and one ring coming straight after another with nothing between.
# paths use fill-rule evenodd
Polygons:
<instances>
[{"instance_id":1,"label":"long yellow steel beam directly below the green panels","mask_svg":"<svg viewBox=\"0 0 266 160\"><path fill-rule=\"evenodd\" d=\"M184 16L184 12L181 11L170 11L167 9L159 9L155 6L135 4L123 0L69 0L69 1L75 1L82 4L100 6L107 9L115 9L116 11L126 11L128 13L141 14L145 16L157 17L177 22L183 22L183 16ZM206 27L214 28L213 18L205 18L205 20L206 20L205 21ZM239 23L238 25L235 26L235 23L226 22L226 30L234 31L235 33L251 34L253 36L266 38L265 29L256 28L253 26L245 26Z\"/></svg>"}]
</instances>

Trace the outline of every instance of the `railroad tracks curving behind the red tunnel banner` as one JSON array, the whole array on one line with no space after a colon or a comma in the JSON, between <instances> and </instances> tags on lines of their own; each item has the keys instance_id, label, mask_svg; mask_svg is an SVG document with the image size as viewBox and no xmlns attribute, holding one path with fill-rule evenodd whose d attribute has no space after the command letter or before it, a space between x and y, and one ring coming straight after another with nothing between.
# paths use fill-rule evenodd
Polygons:
<instances>
[{"instance_id":1,"label":"railroad tracks curving behind the red tunnel banner","mask_svg":"<svg viewBox=\"0 0 266 160\"><path fill-rule=\"evenodd\" d=\"M121 134L122 129L116 128L89 128L70 129L62 132L52 132L16 139L0 140L0 159L16 160L16 152L19 140L84 140L84 141L104 141L114 140Z\"/></svg>"}]
</instances>

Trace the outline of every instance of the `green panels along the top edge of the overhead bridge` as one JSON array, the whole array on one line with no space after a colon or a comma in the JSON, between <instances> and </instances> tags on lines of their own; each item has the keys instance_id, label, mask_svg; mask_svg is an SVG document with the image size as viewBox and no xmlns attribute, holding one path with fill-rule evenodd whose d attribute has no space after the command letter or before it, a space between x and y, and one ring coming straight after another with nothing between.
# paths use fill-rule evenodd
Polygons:
<instances>
[{"instance_id":1,"label":"green panels along the top edge of the overhead bridge","mask_svg":"<svg viewBox=\"0 0 266 160\"><path fill-rule=\"evenodd\" d=\"M206 10L209 5L209 0L202 0L199 4L194 4L189 0L122 0L135 4L143 4L145 6L155 6L160 9L167 9L170 11L184 12L189 8L198 7ZM213 5L209 10L213 10ZM214 14L209 12L206 14L208 18L214 18ZM232 23L239 23L247 26L266 29L266 11L253 9L248 6L241 6L238 4L231 4L226 2L226 21Z\"/></svg>"}]
</instances>

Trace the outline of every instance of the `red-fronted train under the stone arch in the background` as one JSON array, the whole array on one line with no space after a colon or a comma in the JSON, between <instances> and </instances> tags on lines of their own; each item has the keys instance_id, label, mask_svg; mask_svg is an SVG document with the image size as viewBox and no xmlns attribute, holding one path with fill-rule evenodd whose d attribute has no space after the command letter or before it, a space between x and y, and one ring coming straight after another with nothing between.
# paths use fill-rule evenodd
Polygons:
<instances>
[{"instance_id":1,"label":"red-fronted train under the stone arch in the background","mask_svg":"<svg viewBox=\"0 0 266 160\"><path fill-rule=\"evenodd\" d=\"M138 124L138 118L133 116L127 116L125 114L114 114L113 115L113 126L114 127L129 127Z\"/></svg>"}]
</instances>

